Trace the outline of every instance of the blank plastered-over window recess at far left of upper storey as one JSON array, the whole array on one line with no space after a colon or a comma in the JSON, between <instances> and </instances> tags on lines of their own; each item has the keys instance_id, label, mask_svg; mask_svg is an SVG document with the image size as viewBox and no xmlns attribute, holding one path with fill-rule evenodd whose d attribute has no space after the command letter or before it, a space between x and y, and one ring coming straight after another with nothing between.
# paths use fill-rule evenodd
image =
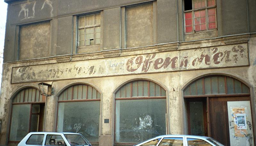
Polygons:
<instances>
[{"instance_id":1,"label":"blank plastered-over window recess at far left of upper storey","mask_svg":"<svg viewBox=\"0 0 256 146\"><path fill-rule=\"evenodd\" d=\"M19 60L49 56L50 22L20 26Z\"/></svg>"}]
</instances>

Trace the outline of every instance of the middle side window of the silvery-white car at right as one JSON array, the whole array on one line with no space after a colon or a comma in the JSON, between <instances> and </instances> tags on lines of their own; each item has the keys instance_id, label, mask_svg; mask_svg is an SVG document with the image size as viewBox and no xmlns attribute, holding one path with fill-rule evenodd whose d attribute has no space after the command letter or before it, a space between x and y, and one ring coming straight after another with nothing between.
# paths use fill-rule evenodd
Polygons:
<instances>
[{"instance_id":1,"label":"middle side window of the silvery-white car at right","mask_svg":"<svg viewBox=\"0 0 256 146\"><path fill-rule=\"evenodd\" d=\"M162 139L158 146L183 146L182 137L166 137Z\"/></svg>"}]
</instances>

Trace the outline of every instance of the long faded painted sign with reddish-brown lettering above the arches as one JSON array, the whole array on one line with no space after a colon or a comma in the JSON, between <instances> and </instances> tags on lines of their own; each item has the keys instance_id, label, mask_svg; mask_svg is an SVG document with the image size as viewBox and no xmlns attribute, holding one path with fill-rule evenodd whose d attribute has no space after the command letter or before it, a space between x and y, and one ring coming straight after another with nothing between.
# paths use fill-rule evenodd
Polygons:
<instances>
[{"instance_id":1,"label":"long faded painted sign with reddish-brown lettering above the arches","mask_svg":"<svg viewBox=\"0 0 256 146\"><path fill-rule=\"evenodd\" d=\"M12 83L249 65L247 44L12 68Z\"/></svg>"}]
</instances>

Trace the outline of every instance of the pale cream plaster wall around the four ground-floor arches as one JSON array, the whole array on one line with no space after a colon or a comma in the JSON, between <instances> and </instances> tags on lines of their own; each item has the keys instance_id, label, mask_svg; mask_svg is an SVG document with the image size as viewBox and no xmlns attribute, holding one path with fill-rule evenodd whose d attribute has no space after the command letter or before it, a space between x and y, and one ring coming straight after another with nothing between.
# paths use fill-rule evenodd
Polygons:
<instances>
[{"instance_id":1,"label":"pale cream plaster wall around the four ground-floor arches","mask_svg":"<svg viewBox=\"0 0 256 146\"><path fill-rule=\"evenodd\" d=\"M242 64L237 64L235 63L235 61L233 61L233 65L231 65L231 67L228 68L213 68L213 69L209 69L209 68L196 68L195 70L176 70L176 71L170 71L170 70L166 70L164 72L152 72L152 73L146 73L145 74L139 74L139 73L135 73L135 74L130 74L130 75L118 75L118 74L113 74L112 76L108 76L108 77L89 77L89 78L79 78L79 79L74 79L74 77L69 77L68 74L64 75L62 80L58 80L57 78L53 78L51 80L49 80L47 83L50 83L53 85L54 87L54 95L51 97L47 97L46 99L46 112L45 112L45 126L44 126L44 130L45 131L55 131L56 129L56 112L57 112L57 96L69 85L73 85L75 83L85 83L85 84L89 84L92 85L93 87L95 87L100 93L102 93L102 98L101 98L101 125L100 125L100 135L101 138L99 139L100 142L102 142L105 139L108 139L107 143L109 143L110 145L113 144L114 141L114 111L115 111L115 107L114 107L114 91L116 91L121 85L131 81L131 80L135 80L135 79L149 79L152 80L160 85L163 86L163 88L165 88L168 92L167 92L167 107L169 108L169 110L167 111L168 115L169 115L169 123L168 123L168 133L169 134L186 134L186 129L187 129L187 125L186 125L186 111L184 111L184 99L183 99L183 94L182 94L182 89L185 88L186 85L188 85L189 83L191 83L192 81L194 81L196 78L198 77L202 77L205 75L211 75L211 74L222 74L222 75L228 75L228 76L232 76L235 77L241 81L244 81L245 84L251 86L252 88L252 102L255 102L255 87L256 87L256 82L255 82L255 70L256 70L256 54L255 52L255 35L251 35L251 38L249 38L250 35L244 35L244 36L236 36L236 37L228 37L227 38L223 38L223 39L212 39L212 40L201 40L201 41L194 41L194 42L183 42L179 45L178 50L180 50L180 52L182 51L188 51L188 50L194 50L193 48L200 48L197 50L197 53L200 52L200 50L204 50L201 47L209 47L211 48L209 51L212 54L211 51L214 51L214 47L210 47L210 46L220 46L219 48L225 48L229 50L232 50L232 47L230 48L230 46L237 46L235 45L236 43L240 42L242 43L242 46L244 46L244 48L247 46L246 41L249 39L248 42L248 50L249 50L249 58L247 57L247 60L242 59ZM226 43L226 45L225 45ZM233 45L232 45L233 44ZM238 44L241 45L241 44ZM157 50L161 50L159 48L148 48L146 50L146 52L156 52L155 49ZM237 47L233 47L233 50L235 50L234 48ZM188 50L187 50L188 49ZM206 52L209 52L206 51ZM241 51L241 50L240 50ZM203 53L204 51L202 51ZM221 52L221 51L220 51ZM135 54L141 54L141 53L145 53L145 50L137 50L137 49L133 49L133 50L129 50L129 52L122 52L121 55L124 55L123 57L125 57L126 55L135 55ZM165 52L166 55L168 55L169 53L173 54L173 50L170 52ZM195 53L195 56L196 54ZM200 54L202 54L201 52L198 54L200 56ZM216 53L216 52L215 52ZM245 53L245 52L242 52ZM189 53L191 54L191 53ZM205 55L205 54L204 54ZM204 56L203 55L203 56ZM224 55L224 54L223 54ZM226 54L227 55L227 54ZM230 54L231 56L232 53ZM244 54L246 55L246 53ZM214 55L213 55L214 56ZM211 58L213 57L211 56ZM236 56L236 55L235 55ZM69 58L69 56L67 56ZM88 56L87 56L88 57ZM95 62L97 62L97 58L101 58L103 56L100 55L94 55L92 54L90 56L91 58L87 58L87 59L94 59ZM202 57L202 56L201 56ZM234 56L233 56L234 57ZM233 57L231 57L231 59L234 59ZM122 58L119 57L119 58ZM129 58L129 57L128 57ZM196 58L196 57L195 57ZM17 67L21 67L21 66L32 66L32 65L36 65L34 67L38 67L37 69L42 69L40 67L40 65L37 64L48 64L48 68L51 66L51 64L49 63L56 63L57 61L55 60L56 58L52 58L52 59L40 59L38 61L17 61L17 62L9 62L9 63L4 63L4 72L3 72L3 82L2 82L2 86L1 86L1 102L0 102L0 119L2 119L2 129L1 129L1 144L5 144L6 142L6 136L8 135L8 131L9 131L9 120L10 120L10 112L11 112L11 98L12 96L18 92L20 89L22 89L23 87L27 87L27 86L32 86L35 88L38 88L37 84L38 81L33 81L31 83L19 83L19 79L17 78L17 80L14 82L16 82L16 84L11 84L11 76L13 74L13 68L17 68ZM82 55L78 55L78 56L74 56L74 62L66 62L66 63L62 63L62 66L66 66L67 64L71 65L76 65L78 63L79 60L83 60L84 56ZM112 58L114 59L114 58ZM221 59L221 58L219 58ZM217 61L220 61L220 60ZM226 60L226 59L225 59ZM250 61L250 66L248 66L248 61ZM192 61L193 62L193 61ZM99 63L99 62L98 62ZM179 62L180 63L180 62ZM207 57L203 57L202 58L202 64L207 64L210 63L207 61ZM213 63L213 62L211 62ZM245 64L244 64L245 63ZM66 64L66 65L65 65ZM110 70L114 71L114 70L118 70L118 68L115 66L117 64L112 63L114 68L112 68ZM231 63L232 64L232 63ZM240 66L240 65L246 65L246 66ZM127 65L127 64L126 64ZM223 64L225 65L225 63ZM237 67L237 65L239 65ZM205 65L204 65L205 66ZM233 66L233 67L232 67ZM56 66L55 66L56 67ZM107 66L105 66L107 67ZM203 66L202 66L203 67ZM221 66L220 66L221 67ZM224 66L222 66L224 67ZM35 70L37 70L35 68ZM29 71L28 71L29 72ZM115 73L115 72L114 72ZM123 72L122 72L123 73ZM122 74L119 73L119 74ZM15 72L14 72L15 74ZM42 73L41 73L42 74ZM44 73L45 75L47 75L47 73ZM65 78L65 77L68 78ZM49 77L51 78L51 77ZM28 80L27 80L28 81ZM252 106L252 112L255 113L255 107ZM185 115L184 115L185 113ZM109 123L104 123L104 119L109 119ZM255 119L255 117L254 117ZM111 139L110 139L111 138Z\"/></svg>"}]
</instances>

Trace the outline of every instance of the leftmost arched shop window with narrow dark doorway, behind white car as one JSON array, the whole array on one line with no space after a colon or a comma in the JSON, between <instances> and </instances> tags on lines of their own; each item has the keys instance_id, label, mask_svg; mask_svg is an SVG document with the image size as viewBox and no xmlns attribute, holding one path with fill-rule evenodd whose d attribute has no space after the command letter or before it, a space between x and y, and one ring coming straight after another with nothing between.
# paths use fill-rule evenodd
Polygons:
<instances>
[{"instance_id":1,"label":"leftmost arched shop window with narrow dark doorway, behind white car","mask_svg":"<svg viewBox=\"0 0 256 146\"><path fill-rule=\"evenodd\" d=\"M35 88L26 88L12 99L9 141L21 141L29 132L43 129L45 96Z\"/></svg>"}]
</instances>

